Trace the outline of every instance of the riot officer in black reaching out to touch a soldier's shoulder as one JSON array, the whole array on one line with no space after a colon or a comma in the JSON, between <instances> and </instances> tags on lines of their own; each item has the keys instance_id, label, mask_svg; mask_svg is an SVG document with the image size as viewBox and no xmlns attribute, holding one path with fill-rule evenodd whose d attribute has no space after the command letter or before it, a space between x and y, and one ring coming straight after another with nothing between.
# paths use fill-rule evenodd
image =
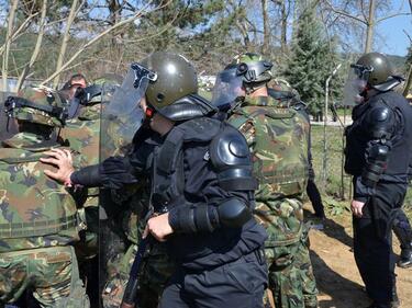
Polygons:
<instances>
[{"instance_id":1,"label":"riot officer in black reaching out to touch a soldier's shoulder","mask_svg":"<svg viewBox=\"0 0 412 308\"><path fill-rule=\"evenodd\" d=\"M154 53L132 69L135 88L148 81L132 153L74 172L68 153L53 150L43 161L59 171L47 175L112 189L138 174L151 179L151 206L168 213L148 219L146 232L166 241L177 263L159 307L263 307L267 236L252 215L256 181L246 140L197 95L196 71L183 57Z\"/></svg>"}]
</instances>

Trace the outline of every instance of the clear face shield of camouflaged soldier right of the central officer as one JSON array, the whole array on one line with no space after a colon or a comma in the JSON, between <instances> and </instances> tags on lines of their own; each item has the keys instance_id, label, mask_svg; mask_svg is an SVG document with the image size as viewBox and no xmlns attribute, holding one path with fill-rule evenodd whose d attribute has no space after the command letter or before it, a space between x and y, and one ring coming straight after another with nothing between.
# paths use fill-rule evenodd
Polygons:
<instances>
[{"instance_id":1,"label":"clear face shield of camouflaged soldier right of the central officer","mask_svg":"<svg viewBox=\"0 0 412 308\"><path fill-rule=\"evenodd\" d=\"M227 68L216 76L212 91L212 105L227 111L235 106L240 98L245 96L243 78L237 67Z\"/></svg>"}]
</instances>

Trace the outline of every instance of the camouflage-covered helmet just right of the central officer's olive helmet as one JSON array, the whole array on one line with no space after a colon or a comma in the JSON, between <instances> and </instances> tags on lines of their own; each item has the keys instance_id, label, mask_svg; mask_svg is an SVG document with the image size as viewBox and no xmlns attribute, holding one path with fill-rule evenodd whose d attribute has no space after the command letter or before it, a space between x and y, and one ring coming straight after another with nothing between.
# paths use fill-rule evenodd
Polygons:
<instances>
[{"instance_id":1,"label":"camouflage-covered helmet just right of the central officer's olive helmet","mask_svg":"<svg viewBox=\"0 0 412 308\"><path fill-rule=\"evenodd\" d=\"M267 83L272 78L271 68L274 64L258 54L241 54L234 57L230 66L237 66L237 75L243 76L245 85Z\"/></svg>"}]
</instances>

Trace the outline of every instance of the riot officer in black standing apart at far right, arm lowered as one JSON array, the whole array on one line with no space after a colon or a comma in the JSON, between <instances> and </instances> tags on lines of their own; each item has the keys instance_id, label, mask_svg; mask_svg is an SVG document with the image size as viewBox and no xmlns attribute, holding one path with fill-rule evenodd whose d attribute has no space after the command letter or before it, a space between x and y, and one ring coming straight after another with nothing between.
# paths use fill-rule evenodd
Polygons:
<instances>
[{"instance_id":1,"label":"riot officer in black standing apart at far right, arm lowered","mask_svg":"<svg viewBox=\"0 0 412 308\"><path fill-rule=\"evenodd\" d=\"M352 65L358 105L346 129L345 170L354 175L354 252L370 308L398 307L391 229L408 187L412 113L393 90L392 75L381 54L369 53Z\"/></svg>"}]
</instances>

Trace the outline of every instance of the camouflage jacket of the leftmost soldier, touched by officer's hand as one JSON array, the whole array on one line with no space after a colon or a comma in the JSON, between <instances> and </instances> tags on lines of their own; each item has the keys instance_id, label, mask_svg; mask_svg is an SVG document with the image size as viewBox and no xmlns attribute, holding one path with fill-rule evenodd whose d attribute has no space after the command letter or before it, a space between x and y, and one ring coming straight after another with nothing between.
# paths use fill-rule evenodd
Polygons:
<instances>
[{"instance_id":1,"label":"camouflage jacket of the leftmost soldier, touched by officer's hand","mask_svg":"<svg viewBox=\"0 0 412 308\"><path fill-rule=\"evenodd\" d=\"M19 133L0 148L0 252L78 240L75 198L44 174L55 168L38 161L52 147L58 145Z\"/></svg>"}]
</instances>

